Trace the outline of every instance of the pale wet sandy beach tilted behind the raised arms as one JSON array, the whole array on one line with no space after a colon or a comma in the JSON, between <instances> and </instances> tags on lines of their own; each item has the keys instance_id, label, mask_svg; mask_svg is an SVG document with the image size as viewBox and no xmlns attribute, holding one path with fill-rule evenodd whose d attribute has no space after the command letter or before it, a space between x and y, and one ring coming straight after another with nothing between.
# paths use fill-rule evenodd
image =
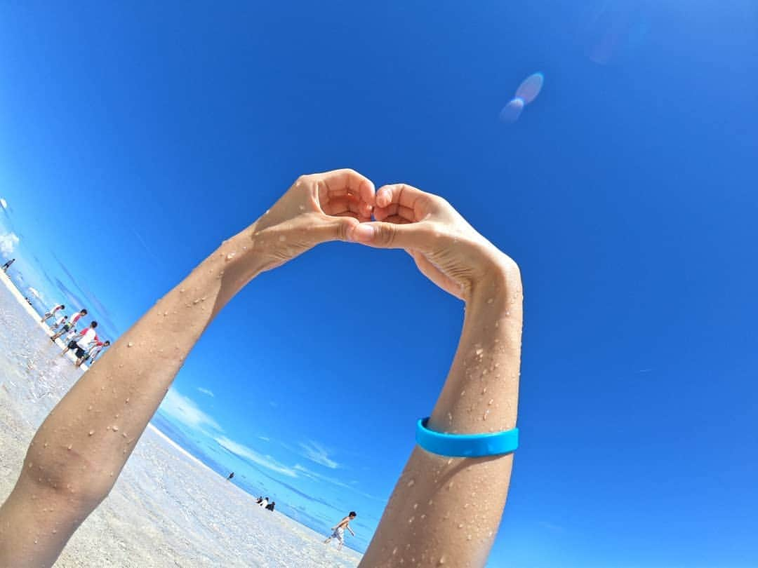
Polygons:
<instances>
[{"instance_id":1,"label":"pale wet sandy beach tilted behind the raised arms","mask_svg":"<svg viewBox=\"0 0 758 568\"><path fill-rule=\"evenodd\" d=\"M0 274L0 500L37 427L81 376ZM150 426L55 566L356 566L361 555L271 513Z\"/></svg>"}]
</instances>

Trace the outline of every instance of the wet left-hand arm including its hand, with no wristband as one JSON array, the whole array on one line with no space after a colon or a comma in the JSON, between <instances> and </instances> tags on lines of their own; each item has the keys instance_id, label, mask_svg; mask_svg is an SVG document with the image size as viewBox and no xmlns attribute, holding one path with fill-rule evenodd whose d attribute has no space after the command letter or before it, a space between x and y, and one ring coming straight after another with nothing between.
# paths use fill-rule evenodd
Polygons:
<instances>
[{"instance_id":1,"label":"wet left-hand arm including its hand, with no wristband","mask_svg":"<svg viewBox=\"0 0 758 568\"><path fill-rule=\"evenodd\" d=\"M45 419L0 507L0 566L50 566L104 499L202 332L251 279L370 218L352 170L302 176L151 307Z\"/></svg>"}]
</instances>

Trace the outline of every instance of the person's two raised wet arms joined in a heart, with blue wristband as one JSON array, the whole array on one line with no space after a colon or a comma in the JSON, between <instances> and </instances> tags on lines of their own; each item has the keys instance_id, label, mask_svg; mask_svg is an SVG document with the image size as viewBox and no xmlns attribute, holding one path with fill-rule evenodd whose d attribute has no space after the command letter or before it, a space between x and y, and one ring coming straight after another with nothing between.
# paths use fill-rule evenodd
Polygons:
<instances>
[{"instance_id":1,"label":"person's two raised wet arms joined in a heart, with blue wristband","mask_svg":"<svg viewBox=\"0 0 758 568\"><path fill-rule=\"evenodd\" d=\"M486 203L487 192L480 193ZM229 204L220 192L213 199L219 211ZM417 444L361 566L410 566L422 555L426 564L434 558L446 566L484 566L503 516L518 446L513 435L518 435L521 273L515 261L446 199L406 183L376 191L355 170L300 176L270 210L222 242L162 295L81 376L39 426L23 463L15 467L17 482L0 506L0 566L52 566L110 494L136 441L211 321L262 273L333 241L405 250L424 276L465 304L453 363L437 401L417 401L421 412L431 409L430 417L418 420ZM168 248L165 254L176 252ZM387 273L385 286L391 286L393 277L395 273ZM350 282L339 283L361 308L367 302L379 310L393 307L387 307L387 298L374 283L352 290ZM256 287L256 292L264 289ZM209 300L205 306L211 309L193 309L201 298ZM450 324L457 328L458 317ZM374 348L371 364L383 368L393 357L393 338L376 342L370 325L366 335L358 331L356 341ZM309 340L308 329L301 333L301 341ZM173 347L171 356L161 353L164 345ZM339 350L330 356L339 360ZM435 352L437 357L445 362L449 358ZM438 362L421 361L430 366ZM404 378L395 374L388 380L402 384ZM479 394L482 385L486 396ZM431 443L435 435L437 442L444 442ZM500 441L494 448L488 442L492 435ZM465 507L471 494L483 488L476 506ZM418 519L412 530L410 519ZM137 534L141 523L125 530ZM155 545L160 547L161 541Z\"/></svg>"}]
</instances>

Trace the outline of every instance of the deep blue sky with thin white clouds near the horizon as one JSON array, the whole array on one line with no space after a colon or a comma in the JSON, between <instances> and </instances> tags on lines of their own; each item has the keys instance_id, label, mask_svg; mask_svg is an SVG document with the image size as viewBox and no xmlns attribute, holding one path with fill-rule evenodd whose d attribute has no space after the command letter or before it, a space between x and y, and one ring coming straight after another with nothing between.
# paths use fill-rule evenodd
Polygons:
<instances>
[{"instance_id":1,"label":"deep blue sky with thin white clouds near the horizon","mask_svg":"<svg viewBox=\"0 0 758 568\"><path fill-rule=\"evenodd\" d=\"M117 336L300 173L444 195L525 279L490 565L754 566L758 12L534 4L3 3L0 247ZM231 302L161 421L363 548L461 323L402 252L323 245Z\"/></svg>"}]
</instances>

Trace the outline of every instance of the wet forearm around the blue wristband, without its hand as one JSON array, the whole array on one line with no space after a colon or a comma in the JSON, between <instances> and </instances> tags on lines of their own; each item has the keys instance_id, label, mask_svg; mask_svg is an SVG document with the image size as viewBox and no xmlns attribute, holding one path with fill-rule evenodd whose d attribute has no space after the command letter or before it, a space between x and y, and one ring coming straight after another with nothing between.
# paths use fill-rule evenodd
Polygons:
<instances>
[{"instance_id":1,"label":"wet forearm around the blue wristband, without its hand","mask_svg":"<svg viewBox=\"0 0 758 568\"><path fill-rule=\"evenodd\" d=\"M521 332L522 286L513 265L471 292L430 429L462 434L515 426ZM451 566L483 566L503 513L511 467L512 455L449 458L415 448L364 565L397 566L402 558L422 566L436 566L441 559ZM434 558L427 552L431 548Z\"/></svg>"}]
</instances>

